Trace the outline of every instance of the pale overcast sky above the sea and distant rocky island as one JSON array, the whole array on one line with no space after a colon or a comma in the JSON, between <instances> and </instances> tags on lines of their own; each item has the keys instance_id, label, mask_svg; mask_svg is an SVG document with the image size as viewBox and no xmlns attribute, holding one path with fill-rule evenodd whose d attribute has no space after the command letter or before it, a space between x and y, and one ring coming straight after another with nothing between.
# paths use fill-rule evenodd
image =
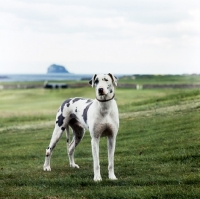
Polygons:
<instances>
[{"instance_id":1,"label":"pale overcast sky above the sea and distant rocky island","mask_svg":"<svg viewBox=\"0 0 200 199\"><path fill-rule=\"evenodd\" d=\"M200 74L199 0L0 0L0 74Z\"/></svg>"}]
</instances>

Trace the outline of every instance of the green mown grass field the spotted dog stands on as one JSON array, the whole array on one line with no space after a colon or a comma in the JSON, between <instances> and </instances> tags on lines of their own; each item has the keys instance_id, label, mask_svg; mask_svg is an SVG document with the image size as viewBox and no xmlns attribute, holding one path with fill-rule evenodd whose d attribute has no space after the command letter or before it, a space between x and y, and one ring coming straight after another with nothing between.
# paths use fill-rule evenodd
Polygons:
<instances>
[{"instance_id":1,"label":"green mown grass field the spotted dog stands on","mask_svg":"<svg viewBox=\"0 0 200 199\"><path fill-rule=\"evenodd\" d=\"M80 169L69 167L64 135L52 171L42 169L57 109L74 96L94 98L94 90L0 91L0 198L200 198L200 90L116 89L118 180L108 180L102 138L99 183L88 132L75 152Z\"/></svg>"}]
</instances>

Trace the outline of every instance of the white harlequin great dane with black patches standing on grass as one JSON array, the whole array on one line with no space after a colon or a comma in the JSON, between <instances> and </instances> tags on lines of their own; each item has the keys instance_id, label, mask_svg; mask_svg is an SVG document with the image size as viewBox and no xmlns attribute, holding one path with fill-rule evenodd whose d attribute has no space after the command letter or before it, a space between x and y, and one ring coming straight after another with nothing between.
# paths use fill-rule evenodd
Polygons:
<instances>
[{"instance_id":1,"label":"white harlequin great dane with black patches standing on grass","mask_svg":"<svg viewBox=\"0 0 200 199\"><path fill-rule=\"evenodd\" d=\"M101 136L107 136L108 140L108 172L109 179L116 180L114 174L114 151L116 136L119 128L119 116L116 101L114 100L114 87L117 86L117 78L112 74L94 75L89 84L96 88L96 99L70 98L63 102L56 115L55 128L48 148L44 170L51 171L50 158L52 151L66 130L67 149L70 166L79 168L74 162L75 147L82 140L85 130L91 135L94 181L101 181L99 164L99 141ZM70 142L69 127L73 131L73 139Z\"/></svg>"}]
</instances>

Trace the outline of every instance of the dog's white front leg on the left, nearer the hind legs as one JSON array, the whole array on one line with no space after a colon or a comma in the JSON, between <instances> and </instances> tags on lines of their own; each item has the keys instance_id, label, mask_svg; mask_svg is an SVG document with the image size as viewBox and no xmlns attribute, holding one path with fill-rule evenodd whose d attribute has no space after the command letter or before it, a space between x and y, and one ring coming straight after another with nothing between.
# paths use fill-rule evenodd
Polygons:
<instances>
[{"instance_id":1,"label":"dog's white front leg on the left, nearer the hind legs","mask_svg":"<svg viewBox=\"0 0 200 199\"><path fill-rule=\"evenodd\" d=\"M92 138L92 156L93 156L93 168L94 168L94 181L101 181L100 164L99 164L99 138Z\"/></svg>"}]
</instances>

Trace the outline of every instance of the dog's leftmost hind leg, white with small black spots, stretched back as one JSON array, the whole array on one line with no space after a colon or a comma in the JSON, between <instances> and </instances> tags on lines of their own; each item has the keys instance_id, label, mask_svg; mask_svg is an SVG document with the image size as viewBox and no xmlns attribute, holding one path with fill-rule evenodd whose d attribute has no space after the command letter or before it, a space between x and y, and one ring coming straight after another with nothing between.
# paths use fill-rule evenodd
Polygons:
<instances>
[{"instance_id":1,"label":"dog's leftmost hind leg, white with small black spots, stretched back","mask_svg":"<svg viewBox=\"0 0 200 199\"><path fill-rule=\"evenodd\" d=\"M60 127L57 124L55 125L50 144L46 149L46 157L45 157L45 162L43 165L44 171L51 171L51 167L50 167L51 155L52 155L53 149L55 148L57 142L61 138L64 129L65 129L64 127Z\"/></svg>"}]
</instances>

